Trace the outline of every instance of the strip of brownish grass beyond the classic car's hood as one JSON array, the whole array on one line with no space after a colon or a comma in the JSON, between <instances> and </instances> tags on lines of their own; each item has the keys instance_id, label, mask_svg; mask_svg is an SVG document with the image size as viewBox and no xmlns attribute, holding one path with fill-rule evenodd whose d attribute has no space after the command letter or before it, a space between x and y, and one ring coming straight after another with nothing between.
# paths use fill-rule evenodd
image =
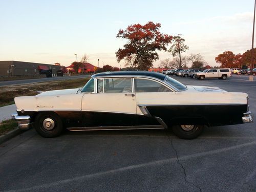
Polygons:
<instances>
[{"instance_id":1,"label":"strip of brownish grass beyond the classic car's hood","mask_svg":"<svg viewBox=\"0 0 256 192\"><path fill-rule=\"evenodd\" d=\"M13 104L14 97L37 95L38 91L51 91L83 87L88 80L89 78L79 78L49 82L37 82L31 84L18 84L14 86L3 86L0 90L0 106Z\"/></svg>"}]
</instances>

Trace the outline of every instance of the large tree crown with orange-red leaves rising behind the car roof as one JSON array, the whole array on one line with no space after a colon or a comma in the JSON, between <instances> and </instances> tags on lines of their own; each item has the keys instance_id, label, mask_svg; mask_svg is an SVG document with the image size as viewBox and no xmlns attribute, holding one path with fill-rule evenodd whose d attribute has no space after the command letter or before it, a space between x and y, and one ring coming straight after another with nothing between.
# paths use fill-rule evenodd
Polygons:
<instances>
[{"instance_id":1,"label":"large tree crown with orange-red leaves rising behind the car roof","mask_svg":"<svg viewBox=\"0 0 256 192\"><path fill-rule=\"evenodd\" d=\"M134 24L125 30L120 29L117 38L128 42L116 52L117 61L133 62L139 70L147 70L153 66L153 61L159 58L158 51L167 51L166 46L172 41L172 36L159 32L161 24L148 22L145 25Z\"/></svg>"}]
</instances>

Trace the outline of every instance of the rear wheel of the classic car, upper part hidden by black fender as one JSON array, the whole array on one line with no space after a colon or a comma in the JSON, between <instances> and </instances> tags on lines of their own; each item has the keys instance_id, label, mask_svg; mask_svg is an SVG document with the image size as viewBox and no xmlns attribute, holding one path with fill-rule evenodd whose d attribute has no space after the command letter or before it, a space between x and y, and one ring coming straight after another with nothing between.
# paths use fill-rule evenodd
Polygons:
<instances>
[{"instance_id":1,"label":"rear wheel of the classic car, upper part hidden by black fender","mask_svg":"<svg viewBox=\"0 0 256 192\"><path fill-rule=\"evenodd\" d=\"M195 139L204 129L204 125L173 125L173 132L181 139Z\"/></svg>"}]
</instances>

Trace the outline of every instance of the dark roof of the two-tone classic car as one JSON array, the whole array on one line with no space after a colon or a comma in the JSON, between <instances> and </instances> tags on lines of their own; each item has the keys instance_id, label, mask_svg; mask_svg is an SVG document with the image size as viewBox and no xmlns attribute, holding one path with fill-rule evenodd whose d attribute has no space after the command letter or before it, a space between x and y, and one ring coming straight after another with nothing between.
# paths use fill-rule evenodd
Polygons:
<instances>
[{"instance_id":1,"label":"dark roof of the two-tone classic car","mask_svg":"<svg viewBox=\"0 0 256 192\"><path fill-rule=\"evenodd\" d=\"M160 80L164 80L166 75L162 73L149 72L149 71L112 71L112 72L103 72L96 73L92 77L104 77L104 76L150 76L155 77Z\"/></svg>"}]
</instances>

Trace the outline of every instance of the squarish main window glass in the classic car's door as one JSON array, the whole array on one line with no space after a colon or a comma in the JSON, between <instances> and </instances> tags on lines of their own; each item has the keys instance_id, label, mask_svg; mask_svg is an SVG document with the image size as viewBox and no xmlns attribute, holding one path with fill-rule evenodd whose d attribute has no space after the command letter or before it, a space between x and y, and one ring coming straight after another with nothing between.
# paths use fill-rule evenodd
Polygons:
<instances>
[{"instance_id":1,"label":"squarish main window glass in the classic car's door","mask_svg":"<svg viewBox=\"0 0 256 192\"><path fill-rule=\"evenodd\" d=\"M104 93L131 93L132 78L104 79Z\"/></svg>"}]
</instances>

